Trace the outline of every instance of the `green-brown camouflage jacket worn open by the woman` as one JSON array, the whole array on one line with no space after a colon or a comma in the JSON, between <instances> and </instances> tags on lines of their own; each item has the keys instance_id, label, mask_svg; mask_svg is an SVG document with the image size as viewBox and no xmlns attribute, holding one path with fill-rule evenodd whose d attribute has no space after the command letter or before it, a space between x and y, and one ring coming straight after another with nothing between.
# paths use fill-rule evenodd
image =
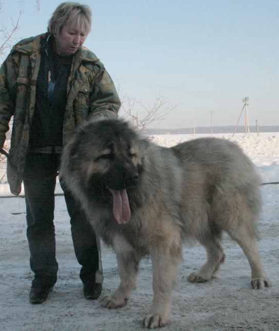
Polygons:
<instances>
[{"instance_id":1,"label":"green-brown camouflage jacket worn open by the woman","mask_svg":"<svg viewBox=\"0 0 279 331\"><path fill-rule=\"evenodd\" d=\"M17 43L0 68L0 148L13 116L7 176L10 190L15 195L21 192L40 50L47 36L44 33ZM82 47L74 54L68 77L63 144L84 119L89 116L117 117L119 108L117 91L103 64L94 53Z\"/></svg>"}]
</instances>

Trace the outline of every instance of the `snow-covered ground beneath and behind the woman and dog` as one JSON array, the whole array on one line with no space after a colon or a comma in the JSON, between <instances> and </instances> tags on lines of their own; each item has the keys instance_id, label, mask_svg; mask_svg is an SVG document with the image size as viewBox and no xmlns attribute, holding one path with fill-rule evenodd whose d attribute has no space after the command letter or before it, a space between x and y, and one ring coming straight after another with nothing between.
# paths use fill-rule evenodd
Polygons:
<instances>
[{"instance_id":1,"label":"snow-covered ground beneath and behind the woman and dog","mask_svg":"<svg viewBox=\"0 0 279 331\"><path fill-rule=\"evenodd\" d=\"M231 135L216 135L231 139ZM198 136L196 136L197 138ZM193 139L190 135L153 136L164 146ZM279 134L237 135L236 141L255 163L264 182L279 181ZM0 174L1 175L1 174ZM59 190L59 188L58 188ZM164 330L278 330L279 329L279 185L261 187L264 206L259 219L259 250L272 287L252 290L250 268L237 244L224 237L227 259L217 279L190 284L186 277L205 260L201 246L183 249L184 261L174 290L172 323ZM0 185L0 195L8 195ZM83 297L79 269L73 252L64 198L56 198L58 281L46 302L28 301L32 274L26 240L25 201L0 198L0 329L1 330L141 330L141 320L152 300L151 261L140 265L138 287L127 306L108 310ZM115 254L103 247L103 295L119 282Z\"/></svg>"}]
</instances>

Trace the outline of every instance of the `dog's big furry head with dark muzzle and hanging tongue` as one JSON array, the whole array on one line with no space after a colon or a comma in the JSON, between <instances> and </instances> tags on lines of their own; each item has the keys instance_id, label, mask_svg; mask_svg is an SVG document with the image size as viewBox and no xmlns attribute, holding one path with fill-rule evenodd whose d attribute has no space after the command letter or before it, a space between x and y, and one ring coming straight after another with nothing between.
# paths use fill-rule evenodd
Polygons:
<instances>
[{"instance_id":1,"label":"dog's big furry head with dark muzzle and hanging tongue","mask_svg":"<svg viewBox=\"0 0 279 331\"><path fill-rule=\"evenodd\" d=\"M144 171L145 144L146 138L125 121L88 121L65 147L61 175L66 167L66 183L78 178L76 184L89 198L113 205L118 223L127 223L129 195Z\"/></svg>"}]
</instances>

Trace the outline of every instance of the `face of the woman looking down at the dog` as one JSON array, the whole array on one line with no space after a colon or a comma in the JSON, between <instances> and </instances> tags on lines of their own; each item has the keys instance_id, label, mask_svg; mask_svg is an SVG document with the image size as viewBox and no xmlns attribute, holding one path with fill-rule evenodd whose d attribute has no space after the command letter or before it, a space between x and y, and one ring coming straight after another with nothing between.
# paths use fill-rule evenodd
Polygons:
<instances>
[{"instance_id":1,"label":"face of the woman looking down at the dog","mask_svg":"<svg viewBox=\"0 0 279 331\"><path fill-rule=\"evenodd\" d=\"M76 53L85 42L87 34L82 28L64 26L55 37L55 51L63 57Z\"/></svg>"}]
</instances>

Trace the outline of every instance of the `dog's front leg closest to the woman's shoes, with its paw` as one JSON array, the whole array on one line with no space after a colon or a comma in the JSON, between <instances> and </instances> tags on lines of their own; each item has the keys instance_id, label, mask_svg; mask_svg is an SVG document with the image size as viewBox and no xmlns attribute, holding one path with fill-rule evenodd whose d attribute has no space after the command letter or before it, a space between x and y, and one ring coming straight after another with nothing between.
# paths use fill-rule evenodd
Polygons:
<instances>
[{"instance_id":1,"label":"dog's front leg closest to the woman's shoes, with its paw","mask_svg":"<svg viewBox=\"0 0 279 331\"><path fill-rule=\"evenodd\" d=\"M117 256L120 284L111 296L101 300L101 305L106 308L119 308L127 304L133 289L136 288L140 261L132 246L123 237L114 239L114 250Z\"/></svg>"}]
</instances>

